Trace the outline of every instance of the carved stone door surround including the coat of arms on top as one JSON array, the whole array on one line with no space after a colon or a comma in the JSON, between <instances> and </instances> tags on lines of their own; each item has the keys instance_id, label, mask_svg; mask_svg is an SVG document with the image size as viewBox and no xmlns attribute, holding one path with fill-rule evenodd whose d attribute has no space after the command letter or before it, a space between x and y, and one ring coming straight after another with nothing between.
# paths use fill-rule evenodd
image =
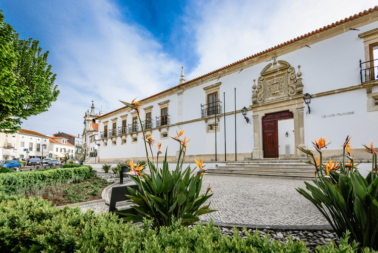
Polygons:
<instances>
[{"instance_id":1,"label":"carved stone door surround including the coat of arms on top","mask_svg":"<svg viewBox=\"0 0 378 253\"><path fill-rule=\"evenodd\" d=\"M298 73L288 62L276 61L268 64L258 79L254 80L252 103L249 107L253 111L254 149L253 159L263 159L263 131L262 118L266 114L290 111L294 119L294 158L303 157L296 147L304 146L304 104L302 73L298 66Z\"/></svg>"}]
</instances>

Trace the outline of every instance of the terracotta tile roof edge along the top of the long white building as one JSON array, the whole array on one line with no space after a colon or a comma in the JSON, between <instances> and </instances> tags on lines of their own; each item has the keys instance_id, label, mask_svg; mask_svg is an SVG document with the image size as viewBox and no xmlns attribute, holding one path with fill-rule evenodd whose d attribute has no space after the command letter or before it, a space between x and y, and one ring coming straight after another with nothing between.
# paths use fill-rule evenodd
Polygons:
<instances>
[{"instance_id":1,"label":"terracotta tile roof edge along the top of the long white building","mask_svg":"<svg viewBox=\"0 0 378 253\"><path fill-rule=\"evenodd\" d=\"M227 65L227 66L225 66L225 67L223 67L223 68L220 68L220 69L214 70L214 71L212 71L212 72L209 72L209 73L207 73L207 74L205 74L205 75L202 75L202 76L197 77L197 78L195 78L195 79L192 79L192 80L190 80L190 81L187 81L187 82L181 83L181 84L179 84L179 85L176 85L176 86L174 86L174 87L172 87L172 88L169 88L169 89L163 90L163 91L161 91L161 92L159 92L159 93L157 93L157 94L155 94L155 95L152 95L152 96L146 97L146 98L144 98L144 99L142 99L142 100L140 100L140 101L142 102L142 101L148 100L148 99L150 99L150 98L152 98L152 97L158 96L158 95L163 94L163 93L165 93L165 92L168 92L168 91L170 91L170 90L173 90L173 89L176 89L176 88L178 88L178 87L184 86L184 85L186 85L186 84L188 84L188 83L192 83L192 82L195 82L195 81L200 80L200 79L202 79L202 78L205 78L205 77L207 77L207 76L211 76L211 75L213 75L213 74L215 74L215 73L217 73L217 72L220 72L220 71L222 71L222 70L225 70L225 69L231 68L231 67L236 66L236 65L238 65L238 64L240 64L240 63L243 63L243 62L246 62L246 61L248 61L248 60L251 60L251 59L257 58L257 57L259 57L259 56L265 55L265 54L267 54L267 53L269 53L269 52L272 52L272 51L274 51L274 50L276 50L276 49L279 49L279 48L281 48L281 47L284 47L284 46L290 45L290 44L292 44L292 43L295 43L296 41L299 41L299 40L301 40L301 39L303 39L303 38L307 38L307 37L310 37L310 36L312 36L312 35L315 35L315 34L321 33L321 32L323 32L323 31L326 31L326 30L331 29L331 28L333 28L333 27L336 27L336 26L338 26L338 25L344 24L344 23L349 22L349 21L351 21L351 20L354 20L354 19L357 19L357 18L363 17L364 15L367 15L367 14L372 13L372 12L375 12L375 11L378 11L378 6L375 6L374 8L370 8L369 10L365 10L365 11L360 12L360 13L358 13L358 14L354 14L354 16L350 16L349 18L342 19L342 20L340 20L340 21L337 21L336 23L332 23L331 25L327 25L327 26L321 27L321 28L319 28L319 29L317 29L317 30L315 30L315 31L308 32L308 33L306 33L306 34L303 34L303 35L301 35L301 36L298 36L298 37L296 37L296 38L293 38L293 39L291 39L291 40L288 40L288 41L286 41L286 42L283 42L283 43L281 43L281 44L278 44L278 45L276 45L276 46L272 46L271 48L268 48L268 49L264 50L263 52L257 53L257 54L255 54L255 55L253 55L253 56L249 56L249 57L244 58L244 59L242 59L242 60L240 60L240 61L237 61L237 62L234 62L234 63L232 63L232 64L229 64L229 65ZM112 112L110 112L110 113L107 113L107 114L101 115L101 116L97 117L96 119L102 118L102 117L104 117L104 116L106 116L106 115L108 115L108 114L114 113L114 112L116 112L116 111L119 111L119 110L122 110L122 109L125 109L125 108L127 108L127 107L119 108L119 109L114 110L114 111L112 111Z\"/></svg>"}]
</instances>

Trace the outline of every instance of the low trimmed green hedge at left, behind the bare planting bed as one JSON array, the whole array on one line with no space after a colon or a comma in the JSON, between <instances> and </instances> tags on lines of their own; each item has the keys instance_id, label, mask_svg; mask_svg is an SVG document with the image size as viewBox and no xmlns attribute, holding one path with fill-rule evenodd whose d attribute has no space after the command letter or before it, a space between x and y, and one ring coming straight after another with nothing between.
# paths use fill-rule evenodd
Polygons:
<instances>
[{"instance_id":1,"label":"low trimmed green hedge at left, behind the bare planting bed","mask_svg":"<svg viewBox=\"0 0 378 253\"><path fill-rule=\"evenodd\" d=\"M4 173L0 174L0 192L14 195L17 194L17 190L31 189L41 183L49 185L58 180L67 181L75 177L88 178L93 174L92 167L88 165L75 168Z\"/></svg>"}]
</instances>

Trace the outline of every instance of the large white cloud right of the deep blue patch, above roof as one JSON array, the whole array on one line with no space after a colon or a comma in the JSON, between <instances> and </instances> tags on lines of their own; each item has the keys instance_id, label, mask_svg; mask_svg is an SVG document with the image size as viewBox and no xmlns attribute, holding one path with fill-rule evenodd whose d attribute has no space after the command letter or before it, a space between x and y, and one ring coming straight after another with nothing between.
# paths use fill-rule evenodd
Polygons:
<instances>
[{"instance_id":1,"label":"large white cloud right of the deep blue patch, above roof","mask_svg":"<svg viewBox=\"0 0 378 253\"><path fill-rule=\"evenodd\" d=\"M200 60L188 76L204 75L375 5L367 0L197 3L193 8L200 22L188 20L187 26L193 26Z\"/></svg>"}]
</instances>

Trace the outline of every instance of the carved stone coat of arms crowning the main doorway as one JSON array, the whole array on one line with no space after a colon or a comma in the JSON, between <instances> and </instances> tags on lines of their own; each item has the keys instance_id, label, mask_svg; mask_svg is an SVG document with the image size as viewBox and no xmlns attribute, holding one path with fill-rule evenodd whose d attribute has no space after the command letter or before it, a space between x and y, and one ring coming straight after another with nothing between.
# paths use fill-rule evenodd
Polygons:
<instances>
[{"instance_id":1,"label":"carved stone coat of arms crowning the main doorway","mask_svg":"<svg viewBox=\"0 0 378 253\"><path fill-rule=\"evenodd\" d=\"M254 105L268 102L274 99L294 96L303 93L302 73L298 65L298 73L295 75L295 68L288 62L276 61L273 57L273 63L268 64L258 79L254 79L252 91L252 103ZM297 78L298 77L298 78Z\"/></svg>"}]
</instances>

